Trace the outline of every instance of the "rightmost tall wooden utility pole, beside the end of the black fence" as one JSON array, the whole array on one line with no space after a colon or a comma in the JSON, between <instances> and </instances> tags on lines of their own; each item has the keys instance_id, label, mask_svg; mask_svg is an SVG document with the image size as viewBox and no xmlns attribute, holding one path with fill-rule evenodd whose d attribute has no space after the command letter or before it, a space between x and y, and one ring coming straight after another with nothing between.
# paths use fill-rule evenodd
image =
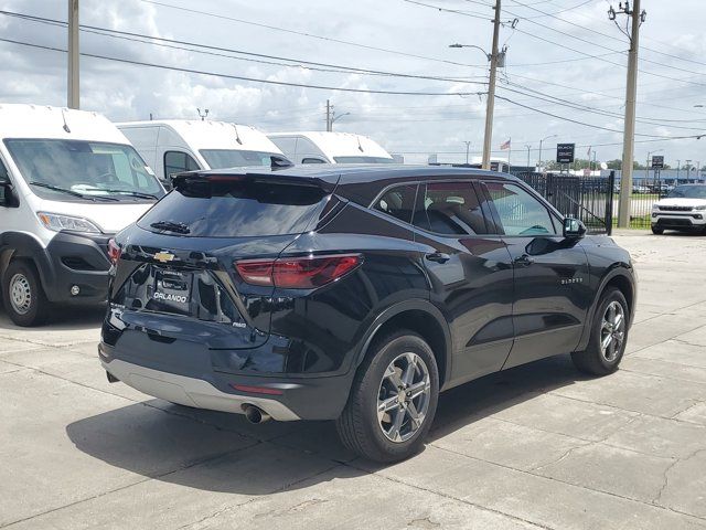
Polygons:
<instances>
[{"instance_id":1,"label":"rightmost tall wooden utility pole, beside the end of the black fence","mask_svg":"<svg viewBox=\"0 0 706 530\"><path fill-rule=\"evenodd\" d=\"M628 82L625 86L625 123L623 131L622 174L620 178L620 200L618 205L618 227L625 229L630 225L630 194L632 192L632 165L634 159L635 140L635 99L638 93L638 50L640 47L640 25L644 22L645 12L640 10L640 0L620 2L619 11L612 6L608 11L608 18L616 21L618 14L627 14L632 20L630 39L630 52L628 54ZM618 22L616 25L620 28ZM621 29L622 31L622 29Z\"/></svg>"}]
</instances>

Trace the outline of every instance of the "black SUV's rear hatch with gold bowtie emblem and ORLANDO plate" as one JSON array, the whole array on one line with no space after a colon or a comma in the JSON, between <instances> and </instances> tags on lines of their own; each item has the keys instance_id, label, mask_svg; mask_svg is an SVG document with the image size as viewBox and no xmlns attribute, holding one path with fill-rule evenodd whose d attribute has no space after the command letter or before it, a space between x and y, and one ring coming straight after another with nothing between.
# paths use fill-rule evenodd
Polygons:
<instances>
[{"instance_id":1,"label":"black SUV's rear hatch with gold bowtie emblem and ORLANDO plate","mask_svg":"<svg viewBox=\"0 0 706 530\"><path fill-rule=\"evenodd\" d=\"M119 241L110 301L120 346L137 349L130 342L143 346L145 335L204 349L261 346L274 287L244 282L234 263L278 257L329 210L335 183L206 173L174 184Z\"/></svg>"}]
</instances>

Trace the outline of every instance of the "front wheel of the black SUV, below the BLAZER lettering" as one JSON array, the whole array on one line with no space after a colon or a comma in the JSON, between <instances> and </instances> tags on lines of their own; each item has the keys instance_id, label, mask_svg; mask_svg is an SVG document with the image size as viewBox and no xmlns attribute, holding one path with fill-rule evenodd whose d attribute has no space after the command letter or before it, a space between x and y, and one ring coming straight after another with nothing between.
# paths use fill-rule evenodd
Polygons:
<instances>
[{"instance_id":1,"label":"front wheel of the black SUV, below the BLAZER lettering","mask_svg":"<svg viewBox=\"0 0 706 530\"><path fill-rule=\"evenodd\" d=\"M588 347L571 353L581 372L607 375L618 370L628 342L628 303L617 288L606 290L596 308Z\"/></svg>"}]
</instances>

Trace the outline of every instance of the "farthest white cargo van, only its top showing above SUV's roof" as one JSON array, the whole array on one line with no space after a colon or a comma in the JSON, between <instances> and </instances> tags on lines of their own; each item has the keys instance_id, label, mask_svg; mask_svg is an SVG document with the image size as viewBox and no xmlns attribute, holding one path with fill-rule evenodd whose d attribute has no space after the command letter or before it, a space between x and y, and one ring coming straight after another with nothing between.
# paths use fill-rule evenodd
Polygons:
<instances>
[{"instance_id":1,"label":"farthest white cargo van, only its top showing above SUV's roof","mask_svg":"<svg viewBox=\"0 0 706 530\"><path fill-rule=\"evenodd\" d=\"M350 132L272 132L267 137L295 163L393 163L366 136Z\"/></svg>"}]
</instances>

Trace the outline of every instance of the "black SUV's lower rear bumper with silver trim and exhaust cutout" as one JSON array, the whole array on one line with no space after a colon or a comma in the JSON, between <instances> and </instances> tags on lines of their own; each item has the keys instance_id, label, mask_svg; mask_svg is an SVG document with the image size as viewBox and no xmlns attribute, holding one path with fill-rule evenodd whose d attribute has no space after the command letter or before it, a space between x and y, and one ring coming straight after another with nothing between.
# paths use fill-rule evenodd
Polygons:
<instances>
[{"instance_id":1,"label":"black SUV's lower rear bumper with silver trim and exhaust cutout","mask_svg":"<svg viewBox=\"0 0 706 530\"><path fill-rule=\"evenodd\" d=\"M231 374L215 370L178 374L115 358L113 348L105 342L99 344L98 354L108 373L153 398L236 414L244 414L243 405L252 404L282 422L335 420L345 406L352 383L352 374L288 378ZM233 385L266 389L277 394L244 392Z\"/></svg>"}]
</instances>

